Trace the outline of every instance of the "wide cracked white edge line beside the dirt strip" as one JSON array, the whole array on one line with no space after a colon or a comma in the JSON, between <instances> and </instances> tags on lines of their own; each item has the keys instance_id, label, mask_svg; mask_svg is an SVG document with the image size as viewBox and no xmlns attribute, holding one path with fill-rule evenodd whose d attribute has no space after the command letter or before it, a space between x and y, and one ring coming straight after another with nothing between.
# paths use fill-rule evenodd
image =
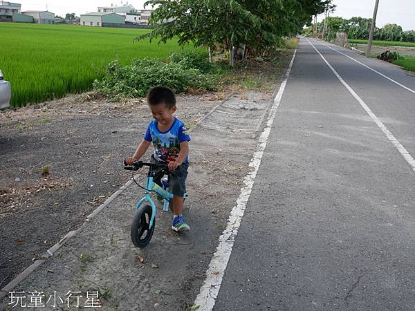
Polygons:
<instances>
[{"instance_id":1,"label":"wide cracked white edge line beside the dirt strip","mask_svg":"<svg viewBox=\"0 0 415 311\"><path fill-rule=\"evenodd\" d=\"M297 53L297 50L294 52L293 59L291 59L290 66L288 66L285 79L279 87L277 95L275 96L274 104L270 109L270 113L268 114L266 126L264 131L261 133L257 147L255 147L255 152L250 160L249 166L252 167L253 170L250 171L250 173L248 173L245 178L243 178L244 186L241 188L241 193L239 194L236 205L230 212L228 225L219 237L219 245L216 247L216 252L213 254L212 260L210 261L208 271L206 271L205 283L203 283L200 293L194 301L195 306L200 306L198 310L212 310L216 301L216 297L219 294L223 274L225 273L226 267L228 266L232 247L238 234L239 225L241 225L243 213L245 212L246 204L250 197L252 186L254 185L259 165L261 164L262 156L264 155L264 150L268 142L271 128L273 127L275 114L277 113L277 108L279 106L279 102L281 102L288 76L290 75L291 68L293 67L295 53Z\"/></svg>"}]
</instances>

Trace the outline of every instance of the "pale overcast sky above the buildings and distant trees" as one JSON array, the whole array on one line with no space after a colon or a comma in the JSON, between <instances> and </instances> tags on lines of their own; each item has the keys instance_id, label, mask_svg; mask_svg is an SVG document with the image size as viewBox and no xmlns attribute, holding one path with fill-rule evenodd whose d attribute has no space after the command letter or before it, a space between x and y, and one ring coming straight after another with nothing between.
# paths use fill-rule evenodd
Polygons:
<instances>
[{"instance_id":1,"label":"pale overcast sky above the buildings and distant trees","mask_svg":"<svg viewBox=\"0 0 415 311\"><path fill-rule=\"evenodd\" d=\"M75 12L81 15L85 12L94 12L98 6L111 6L120 4L119 0L13 0L21 4L22 10L48 10L56 15L64 16L68 12ZM122 1L122 3L130 3L135 8L142 8L145 1ZM350 18L353 16L372 17L374 12L375 0L334 0L337 8L333 16ZM320 17L319 20L323 18ZM380 0L377 26L382 27L386 23L398 23L404 30L415 30L415 0Z\"/></svg>"}]
</instances>

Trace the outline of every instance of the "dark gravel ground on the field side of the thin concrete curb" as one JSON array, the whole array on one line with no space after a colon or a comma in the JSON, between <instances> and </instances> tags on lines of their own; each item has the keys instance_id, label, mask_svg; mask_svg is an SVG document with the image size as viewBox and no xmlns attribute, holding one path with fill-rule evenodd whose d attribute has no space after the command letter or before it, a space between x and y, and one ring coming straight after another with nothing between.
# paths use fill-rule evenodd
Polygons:
<instances>
[{"instance_id":1,"label":"dark gravel ground on the field side of the thin concrete curb","mask_svg":"<svg viewBox=\"0 0 415 311\"><path fill-rule=\"evenodd\" d=\"M178 117L192 127L220 101L203 95L178 102ZM120 164L142 138L147 110L143 100L76 96L0 113L0 288L124 184ZM42 176L46 166L50 175Z\"/></svg>"}]
</instances>

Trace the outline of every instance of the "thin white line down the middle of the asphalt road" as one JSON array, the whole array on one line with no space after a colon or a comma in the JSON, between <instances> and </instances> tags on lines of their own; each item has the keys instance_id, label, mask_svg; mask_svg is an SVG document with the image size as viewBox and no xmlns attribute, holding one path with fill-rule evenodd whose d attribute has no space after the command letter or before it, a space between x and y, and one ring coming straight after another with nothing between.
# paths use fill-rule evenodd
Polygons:
<instances>
[{"instance_id":1,"label":"thin white line down the middle of the asphalt road","mask_svg":"<svg viewBox=\"0 0 415 311\"><path fill-rule=\"evenodd\" d=\"M306 40L308 41L309 44L311 44L311 46L313 46L313 44L308 39L306 39ZM365 102L363 102L363 100L359 97L359 95L356 94L355 91L353 91L353 88L351 88L349 86L349 84L347 84L346 82L344 82L344 79L342 79L342 77L340 77L340 75L331 66L331 64L329 64L329 62L327 62L327 60L324 58L324 56L322 55L322 53L320 53L319 50L317 50L317 48L315 48L315 46L313 46L313 48L322 57L322 59L324 60L324 62L326 63L326 65L329 66L329 68L331 69L331 71L333 71L333 73L335 74L335 76L338 77L338 79L340 80L340 82L342 82L342 84L347 88L347 90L351 93L351 95L353 95L353 97L356 98L356 100L359 102L360 106L362 106L362 108L365 109L365 111L367 112L367 114L372 118L372 120L374 120L374 122L376 123L376 125L379 126L379 129L382 130L383 133L385 133L387 139L399 151L399 153L403 156L403 158L405 159L405 161L408 162L409 166L412 167L412 169L415 171L415 160L409 154L409 152L405 149L405 147L403 147L403 145L400 144L400 142L395 138L395 136L392 135L392 133L385 126L385 124L383 124L379 120L379 118L376 117L376 115L369 109L369 106L367 106L367 104Z\"/></svg>"}]
</instances>

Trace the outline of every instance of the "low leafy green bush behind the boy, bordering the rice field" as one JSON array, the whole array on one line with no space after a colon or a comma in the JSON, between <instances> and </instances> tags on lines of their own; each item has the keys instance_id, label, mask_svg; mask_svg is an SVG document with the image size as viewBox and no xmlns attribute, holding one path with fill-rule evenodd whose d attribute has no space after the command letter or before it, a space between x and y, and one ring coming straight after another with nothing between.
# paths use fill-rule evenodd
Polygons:
<instances>
[{"instance_id":1,"label":"low leafy green bush behind the boy, bordering the rice field","mask_svg":"<svg viewBox=\"0 0 415 311\"><path fill-rule=\"evenodd\" d=\"M95 80L93 87L113 100L145 97L150 88L158 85L168 86L175 93L183 93L190 88L214 90L216 76L203 73L196 67L198 63L195 59L197 56L185 53L182 57L171 55L168 62L147 57L122 66L114 61L107 66L104 78Z\"/></svg>"}]
</instances>

